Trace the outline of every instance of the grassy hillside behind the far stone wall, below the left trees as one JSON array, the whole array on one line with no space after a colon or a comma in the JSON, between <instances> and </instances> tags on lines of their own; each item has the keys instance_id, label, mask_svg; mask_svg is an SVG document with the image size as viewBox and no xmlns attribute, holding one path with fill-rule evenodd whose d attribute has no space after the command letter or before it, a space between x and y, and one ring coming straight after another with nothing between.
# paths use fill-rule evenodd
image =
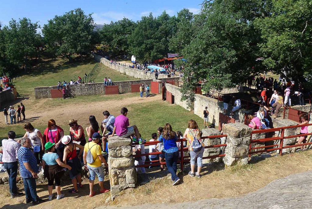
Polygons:
<instances>
[{"instance_id":1,"label":"grassy hillside behind the far stone wall, below the left trees","mask_svg":"<svg viewBox=\"0 0 312 209\"><path fill-rule=\"evenodd\" d=\"M34 97L34 87L56 86L58 81L75 81L78 76L84 77L89 74L95 66L93 58L86 58L84 62L69 63L62 58L43 59L40 64L33 67L32 72L14 81L20 97ZM128 81L137 78L119 73L109 67L102 65L101 71L95 79L95 82L104 82L105 77L110 77L112 81Z\"/></svg>"}]
</instances>

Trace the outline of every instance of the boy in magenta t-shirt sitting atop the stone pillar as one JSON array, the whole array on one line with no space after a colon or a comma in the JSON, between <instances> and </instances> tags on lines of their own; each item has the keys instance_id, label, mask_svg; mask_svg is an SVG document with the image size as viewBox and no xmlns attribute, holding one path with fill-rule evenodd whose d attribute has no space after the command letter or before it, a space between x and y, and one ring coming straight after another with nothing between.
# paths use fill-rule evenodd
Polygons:
<instances>
[{"instance_id":1,"label":"boy in magenta t-shirt sitting atop the stone pillar","mask_svg":"<svg viewBox=\"0 0 312 209\"><path fill-rule=\"evenodd\" d=\"M130 126L129 118L126 117L128 113L128 109L126 107L121 108L121 115L115 118L113 133L109 136L112 137L116 133L119 137L132 137L133 142L138 142L137 137L139 138L139 144L143 144L146 142L145 139L141 138L141 134L139 133L136 125ZM130 127L129 127L130 126ZM134 136L135 134L135 136Z\"/></svg>"}]
</instances>

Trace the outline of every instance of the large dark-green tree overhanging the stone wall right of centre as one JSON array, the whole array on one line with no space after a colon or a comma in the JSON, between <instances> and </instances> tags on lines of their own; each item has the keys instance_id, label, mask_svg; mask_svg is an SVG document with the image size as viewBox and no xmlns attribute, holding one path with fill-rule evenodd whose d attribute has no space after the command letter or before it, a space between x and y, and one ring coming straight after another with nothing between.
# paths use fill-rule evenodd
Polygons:
<instances>
[{"instance_id":1,"label":"large dark-green tree overhanging the stone wall right of centre","mask_svg":"<svg viewBox=\"0 0 312 209\"><path fill-rule=\"evenodd\" d=\"M258 0L215 0L204 3L194 20L190 17L186 24L178 24L178 38L171 43L182 48L180 55L187 60L175 63L184 66L181 91L190 106L198 81L205 81L206 92L221 90L263 70L256 61L260 35L253 25L253 20L261 16L260 8Z\"/></svg>"}]
</instances>

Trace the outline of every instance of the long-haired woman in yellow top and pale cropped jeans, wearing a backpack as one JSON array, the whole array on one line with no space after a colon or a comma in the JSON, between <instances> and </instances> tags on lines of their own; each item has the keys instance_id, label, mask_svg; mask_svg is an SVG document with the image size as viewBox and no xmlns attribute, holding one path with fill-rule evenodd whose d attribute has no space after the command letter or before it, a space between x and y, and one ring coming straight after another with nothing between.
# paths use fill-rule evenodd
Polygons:
<instances>
[{"instance_id":1,"label":"long-haired woman in yellow top and pale cropped jeans, wearing a backpack","mask_svg":"<svg viewBox=\"0 0 312 209\"><path fill-rule=\"evenodd\" d=\"M200 130L196 121L190 120L188 122L188 128L184 132L185 139L187 139L187 147L191 157L191 171L188 173L190 177L196 176L200 178L200 172L202 170L202 155L205 148L200 137ZM195 173L195 161L197 159L197 172Z\"/></svg>"}]
</instances>

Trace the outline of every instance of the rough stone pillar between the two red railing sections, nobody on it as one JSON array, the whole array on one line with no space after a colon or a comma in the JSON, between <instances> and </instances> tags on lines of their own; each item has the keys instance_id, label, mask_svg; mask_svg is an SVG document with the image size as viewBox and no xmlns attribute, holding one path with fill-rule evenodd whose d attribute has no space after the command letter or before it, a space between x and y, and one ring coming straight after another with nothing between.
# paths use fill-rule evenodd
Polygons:
<instances>
[{"instance_id":1,"label":"rough stone pillar between the two red railing sections, nobody on it","mask_svg":"<svg viewBox=\"0 0 312 209\"><path fill-rule=\"evenodd\" d=\"M226 166L232 166L235 163L247 164L251 127L242 123L229 123L224 124L222 130L224 134L227 134L224 164Z\"/></svg>"}]
</instances>

